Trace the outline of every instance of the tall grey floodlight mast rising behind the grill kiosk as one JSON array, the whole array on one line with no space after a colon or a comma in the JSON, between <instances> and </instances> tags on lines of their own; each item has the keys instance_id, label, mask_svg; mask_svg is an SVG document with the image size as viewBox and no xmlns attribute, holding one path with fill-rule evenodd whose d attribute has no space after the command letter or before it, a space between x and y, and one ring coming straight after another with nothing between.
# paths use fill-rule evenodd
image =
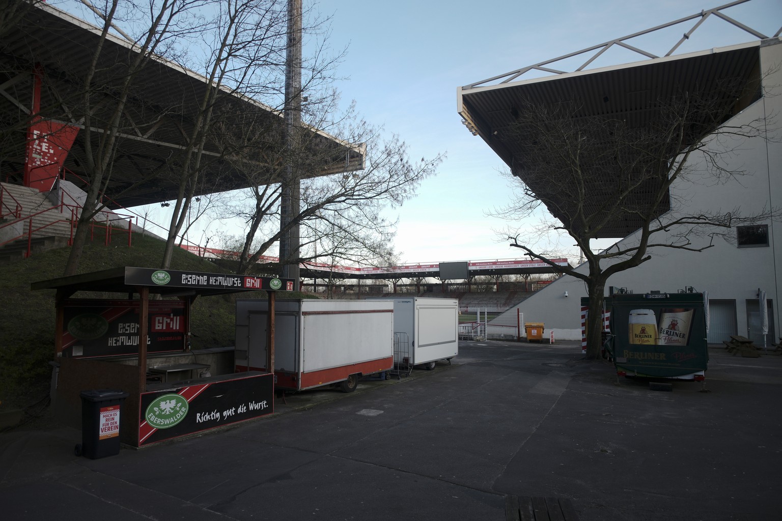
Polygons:
<instances>
[{"instance_id":1,"label":"tall grey floodlight mast rising behind the grill kiosk","mask_svg":"<svg viewBox=\"0 0 782 521\"><path fill-rule=\"evenodd\" d=\"M289 227L292 216L299 215L301 176L297 156L301 126L301 0L288 0L288 45L285 55L285 179L282 181L280 207L280 261L282 277L293 279L299 291L299 225Z\"/></svg>"}]
</instances>

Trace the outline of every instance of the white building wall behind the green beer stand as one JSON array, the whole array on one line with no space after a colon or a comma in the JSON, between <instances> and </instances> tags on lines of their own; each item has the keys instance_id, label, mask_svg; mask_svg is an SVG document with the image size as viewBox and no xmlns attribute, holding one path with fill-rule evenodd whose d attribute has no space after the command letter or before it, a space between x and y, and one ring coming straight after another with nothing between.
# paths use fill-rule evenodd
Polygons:
<instances>
[{"instance_id":1,"label":"white building wall behind the green beer stand","mask_svg":"<svg viewBox=\"0 0 782 521\"><path fill-rule=\"evenodd\" d=\"M760 124L767 129L766 139L722 139L720 143L712 143L712 147L733 151L726 157L726 168L741 171L741 175L719 183L705 172L698 157L692 158L688 164L693 166L693 175L673 187L672 212L677 208L687 213L696 209L741 210L742 214L751 215L782 208L782 43L774 39L764 44L760 54L762 70L767 74L763 81L765 95L726 124L761 120ZM773 321L774 331L779 336L782 334L782 293L777 277L782 277L782 223L771 220L765 223L769 226L769 247L737 248L735 244L716 238L713 246L703 252L652 248L650 260L637 268L617 273L608 280L608 286L626 287L634 293L676 292L687 286L696 291L708 291L710 300L735 301L738 334L747 333L746 301L756 299L758 289L762 289L767 298L773 300L773 316L769 316L769 323ZM632 244L636 237L637 234L631 234L622 239L619 247ZM699 242L693 242L694 245L707 245L709 241L709 237L700 237ZM587 273L586 264L579 269ZM579 340L580 298L586 296L586 287L581 280L561 277L516 308L524 313L527 322L543 322L547 331L553 329L555 338ZM515 316L516 308L508 313ZM769 341L776 342L777 338L769 338Z\"/></svg>"}]
</instances>

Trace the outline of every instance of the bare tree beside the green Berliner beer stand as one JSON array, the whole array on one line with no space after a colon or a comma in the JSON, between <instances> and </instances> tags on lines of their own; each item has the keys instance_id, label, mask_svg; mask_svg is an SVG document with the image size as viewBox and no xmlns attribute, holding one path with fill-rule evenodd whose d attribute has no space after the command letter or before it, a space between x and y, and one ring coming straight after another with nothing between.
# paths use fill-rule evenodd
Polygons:
<instances>
[{"instance_id":1,"label":"bare tree beside the green Berliner beer stand","mask_svg":"<svg viewBox=\"0 0 782 521\"><path fill-rule=\"evenodd\" d=\"M756 92L757 83L753 86ZM655 248L701 252L717 237L730 240L732 227L773 216L771 209L746 215L741 209L694 208L676 191L685 181L713 184L743 174L725 159L741 142L734 140L764 136L761 123L766 123L730 119L743 108L734 102L747 89L742 84L682 92L659 101L647 123L637 126L587 116L576 105L527 103L518 111L514 131L522 160L515 175L524 182L517 181L513 200L495 215L515 221L545 206L558 221L549 229L569 235L583 252L586 273L554 265L530 237L512 232L508 237L525 255L587 285L587 358L599 357L600 310L609 277L640 266ZM622 222L637 229L632 240L604 251L590 247L594 237L617 237L610 229Z\"/></svg>"}]
</instances>

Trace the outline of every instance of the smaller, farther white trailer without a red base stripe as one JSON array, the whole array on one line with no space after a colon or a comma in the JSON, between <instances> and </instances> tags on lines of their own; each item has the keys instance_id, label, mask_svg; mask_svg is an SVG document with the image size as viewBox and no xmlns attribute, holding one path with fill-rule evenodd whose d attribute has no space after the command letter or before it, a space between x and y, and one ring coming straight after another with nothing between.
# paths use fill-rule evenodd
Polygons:
<instances>
[{"instance_id":1,"label":"smaller, farther white trailer without a red base stripe","mask_svg":"<svg viewBox=\"0 0 782 521\"><path fill-rule=\"evenodd\" d=\"M459 354L459 302L455 298L389 297L393 302L394 363L432 370Z\"/></svg>"}]
</instances>

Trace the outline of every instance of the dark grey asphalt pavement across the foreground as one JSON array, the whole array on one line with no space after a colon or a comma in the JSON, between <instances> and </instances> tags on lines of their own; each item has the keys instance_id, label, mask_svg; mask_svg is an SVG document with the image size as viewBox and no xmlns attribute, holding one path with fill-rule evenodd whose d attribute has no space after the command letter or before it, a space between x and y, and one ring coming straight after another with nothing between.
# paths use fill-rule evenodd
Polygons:
<instances>
[{"instance_id":1,"label":"dark grey asphalt pavement across the foreground","mask_svg":"<svg viewBox=\"0 0 782 521\"><path fill-rule=\"evenodd\" d=\"M579 344L462 342L434 371L305 391L198 437L74 455L81 432L0 435L2 519L782 519L782 356L710 350L705 386L617 380Z\"/></svg>"}]
</instances>

